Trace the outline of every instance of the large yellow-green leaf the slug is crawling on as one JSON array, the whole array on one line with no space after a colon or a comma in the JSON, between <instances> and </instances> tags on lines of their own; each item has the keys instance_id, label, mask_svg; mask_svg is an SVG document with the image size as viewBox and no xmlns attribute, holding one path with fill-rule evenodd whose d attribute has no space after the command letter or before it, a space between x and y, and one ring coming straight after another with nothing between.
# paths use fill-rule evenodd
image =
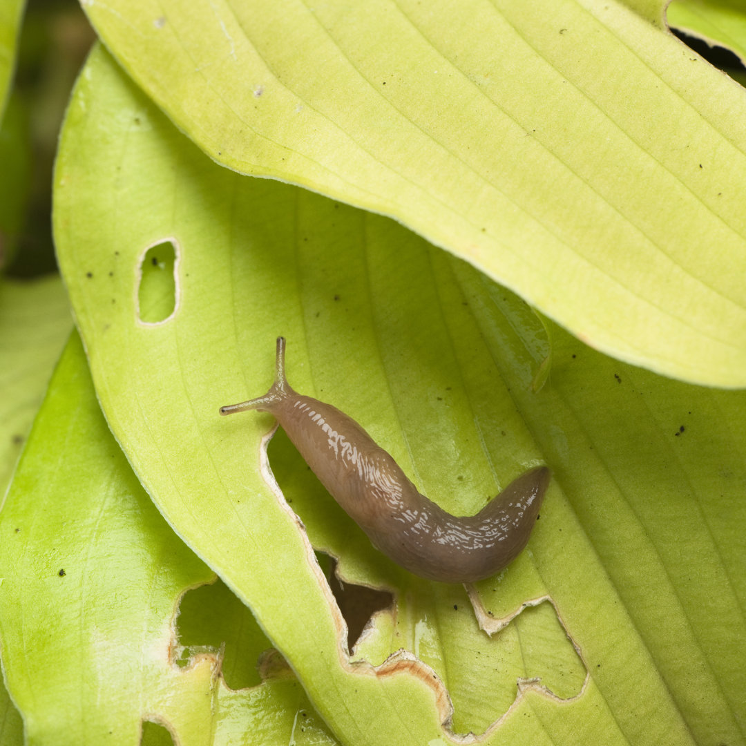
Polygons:
<instances>
[{"instance_id":1,"label":"large yellow-green leaf the slug is crawling on","mask_svg":"<svg viewBox=\"0 0 746 746\"><path fill-rule=\"evenodd\" d=\"M745 742L744 395L556 327L534 393L549 342L515 296L395 222L219 168L101 50L69 108L54 222L116 438L340 742L448 743L503 714L485 743ZM279 333L293 385L454 513L539 460L554 469L527 551L469 589L474 611L375 552L286 442L270 471L271 417L218 416L269 386ZM354 656L313 547L396 592Z\"/></svg>"}]
</instances>

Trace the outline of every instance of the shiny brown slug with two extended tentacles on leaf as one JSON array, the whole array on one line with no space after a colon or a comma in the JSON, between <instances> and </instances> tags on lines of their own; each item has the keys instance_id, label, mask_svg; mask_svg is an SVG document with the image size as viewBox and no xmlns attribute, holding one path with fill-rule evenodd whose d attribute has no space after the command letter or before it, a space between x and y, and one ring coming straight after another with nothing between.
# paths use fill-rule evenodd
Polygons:
<instances>
[{"instance_id":1,"label":"shiny brown slug with two extended tentacles on leaf","mask_svg":"<svg viewBox=\"0 0 746 746\"><path fill-rule=\"evenodd\" d=\"M504 568L526 545L550 479L546 466L532 468L476 515L447 513L421 495L395 460L351 417L293 391L285 377L281 336L269 392L221 407L220 413L245 410L272 413L373 545L428 580L470 583Z\"/></svg>"}]
</instances>

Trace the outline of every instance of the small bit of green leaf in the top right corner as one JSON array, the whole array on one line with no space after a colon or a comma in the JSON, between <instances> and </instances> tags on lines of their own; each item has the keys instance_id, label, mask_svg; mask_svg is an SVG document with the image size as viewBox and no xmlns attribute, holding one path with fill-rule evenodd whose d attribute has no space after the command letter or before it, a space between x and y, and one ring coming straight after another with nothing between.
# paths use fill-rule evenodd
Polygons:
<instances>
[{"instance_id":1,"label":"small bit of green leaf in the top right corner","mask_svg":"<svg viewBox=\"0 0 746 746\"><path fill-rule=\"evenodd\" d=\"M746 9L741 0L674 0L666 14L672 26L746 61Z\"/></svg>"}]
</instances>

